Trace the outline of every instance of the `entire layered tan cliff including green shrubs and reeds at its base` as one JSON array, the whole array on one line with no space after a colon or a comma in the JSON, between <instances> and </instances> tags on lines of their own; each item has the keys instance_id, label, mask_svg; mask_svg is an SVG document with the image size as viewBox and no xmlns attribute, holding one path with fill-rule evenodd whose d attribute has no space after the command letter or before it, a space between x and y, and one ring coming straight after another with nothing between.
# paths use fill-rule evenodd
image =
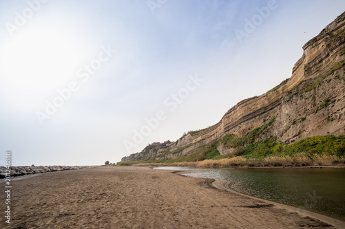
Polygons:
<instances>
[{"instance_id":1,"label":"entire layered tan cliff including green shrubs and reeds at its base","mask_svg":"<svg viewBox=\"0 0 345 229\"><path fill-rule=\"evenodd\" d=\"M344 164L344 32L345 13L303 46L292 76L277 87L238 102L212 127L119 164Z\"/></svg>"}]
</instances>

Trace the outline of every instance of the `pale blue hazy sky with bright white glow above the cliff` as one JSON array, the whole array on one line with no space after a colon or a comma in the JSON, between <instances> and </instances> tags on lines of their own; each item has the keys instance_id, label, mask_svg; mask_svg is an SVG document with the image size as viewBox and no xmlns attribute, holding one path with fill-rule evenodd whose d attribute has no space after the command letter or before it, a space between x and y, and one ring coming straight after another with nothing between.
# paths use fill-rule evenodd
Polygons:
<instances>
[{"instance_id":1,"label":"pale blue hazy sky with bright white glow above the cliff","mask_svg":"<svg viewBox=\"0 0 345 229\"><path fill-rule=\"evenodd\" d=\"M0 0L0 165L99 165L290 78L343 0ZM2 155L2 156L1 156Z\"/></svg>"}]
</instances>

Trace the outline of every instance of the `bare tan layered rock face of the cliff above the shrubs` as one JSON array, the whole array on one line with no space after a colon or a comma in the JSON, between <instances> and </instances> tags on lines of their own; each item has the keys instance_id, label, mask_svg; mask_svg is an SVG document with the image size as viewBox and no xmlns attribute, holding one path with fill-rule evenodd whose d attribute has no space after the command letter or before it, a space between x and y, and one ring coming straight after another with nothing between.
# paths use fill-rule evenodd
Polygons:
<instances>
[{"instance_id":1,"label":"bare tan layered rock face of the cliff above the shrubs","mask_svg":"<svg viewBox=\"0 0 345 229\"><path fill-rule=\"evenodd\" d=\"M262 96L237 103L221 120L192 131L169 146L132 154L122 160L171 159L188 155L228 134L244 135L275 118L258 140L274 136L290 143L315 135L345 134L345 13L303 47L292 76ZM233 149L217 147L219 153Z\"/></svg>"}]
</instances>

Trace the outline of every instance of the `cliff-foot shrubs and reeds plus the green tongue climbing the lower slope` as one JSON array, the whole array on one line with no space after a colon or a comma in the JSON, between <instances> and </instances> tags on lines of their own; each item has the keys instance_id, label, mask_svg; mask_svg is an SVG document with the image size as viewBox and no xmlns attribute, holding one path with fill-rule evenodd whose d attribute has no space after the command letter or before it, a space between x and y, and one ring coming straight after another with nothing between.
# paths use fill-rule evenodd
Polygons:
<instances>
[{"instance_id":1,"label":"cliff-foot shrubs and reeds plus the green tongue climbing the lower slope","mask_svg":"<svg viewBox=\"0 0 345 229\"><path fill-rule=\"evenodd\" d=\"M339 164L345 162L345 136L344 135L325 135L315 136L299 140L290 144L279 142L274 136L270 136L264 140L262 138L264 133L272 127L276 116L269 120L262 127L258 127L244 137L239 138L237 135L225 135L221 140L212 142L200 149L197 149L189 155L183 155L169 160L159 160L157 158L150 158L149 160L133 161L133 162L119 162L119 165L132 164L176 164L181 162L201 162L199 166L243 166L251 165L254 162L257 166L281 166L285 164L290 165L321 165L321 164ZM226 148L232 148L233 151L226 155L220 155L217 146L223 144ZM174 152L182 150L177 149ZM228 159L228 160L224 160ZM322 160L321 160L322 159ZM227 164L224 162L228 162ZM260 163L263 164L260 164ZM270 162L270 163L268 163ZM284 162L284 163L283 163ZM296 162L293 164L292 162ZM315 163L314 163L315 162ZM255 164L254 163L254 164ZM259 164L258 164L259 163ZM195 165L195 164L193 164Z\"/></svg>"}]
</instances>

